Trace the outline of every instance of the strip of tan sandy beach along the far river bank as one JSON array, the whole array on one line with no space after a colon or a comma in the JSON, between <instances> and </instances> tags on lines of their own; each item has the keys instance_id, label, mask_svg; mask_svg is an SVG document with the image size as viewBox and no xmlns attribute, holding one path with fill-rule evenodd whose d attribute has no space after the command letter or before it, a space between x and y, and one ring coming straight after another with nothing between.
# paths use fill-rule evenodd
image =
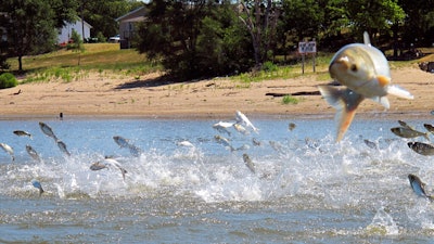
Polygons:
<instances>
[{"instance_id":1,"label":"strip of tan sandy beach along the far river bank","mask_svg":"<svg viewBox=\"0 0 434 244\"><path fill-rule=\"evenodd\" d=\"M159 74L140 78L89 73L80 79L30 82L0 90L1 115L8 118L58 117L157 117L157 118L226 118L237 110L250 116L333 116L335 111L318 94L312 75L293 79L264 80L244 84L228 78L191 82L164 82ZM391 108L370 100L363 101L357 116L367 117L430 117L434 110L434 75L417 65L392 69L393 84L414 95L403 100L390 95ZM296 104L283 104L282 97L294 95Z\"/></svg>"}]
</instances>

